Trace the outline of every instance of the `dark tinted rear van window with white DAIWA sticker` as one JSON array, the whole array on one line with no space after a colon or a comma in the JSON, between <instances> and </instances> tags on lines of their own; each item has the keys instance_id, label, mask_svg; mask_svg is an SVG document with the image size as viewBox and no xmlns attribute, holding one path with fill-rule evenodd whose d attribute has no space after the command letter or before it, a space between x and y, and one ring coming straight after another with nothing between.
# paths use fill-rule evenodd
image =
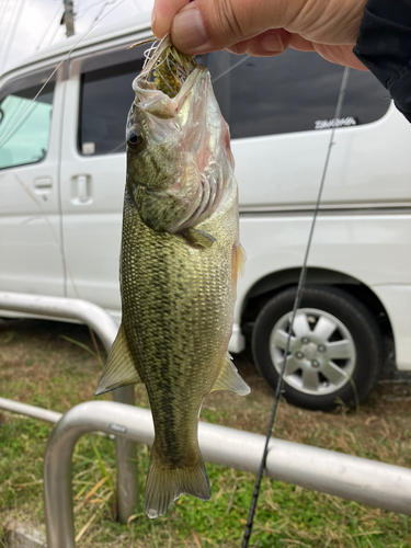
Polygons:
<instances>
[{"instance_id":1,"label":"dark tinted rear van window with white DAIWA sticker","mask_svg":"<svg viewBox=\"0 0 411 548\"><path fill-rule=\"evenodd\" d=\"M219 76L221 62L216 57L220 55L202 59L213 79ZM231 55L229 64L238 60ZM316 53L289 48L275 57L249 57L218 80L215 91L232 138L323 129L332 126L343 71ZM340 125L380 118L389 107L387 95L369 72L351 70L342 112L345 122Z\"/></svg>"}]
</instances>

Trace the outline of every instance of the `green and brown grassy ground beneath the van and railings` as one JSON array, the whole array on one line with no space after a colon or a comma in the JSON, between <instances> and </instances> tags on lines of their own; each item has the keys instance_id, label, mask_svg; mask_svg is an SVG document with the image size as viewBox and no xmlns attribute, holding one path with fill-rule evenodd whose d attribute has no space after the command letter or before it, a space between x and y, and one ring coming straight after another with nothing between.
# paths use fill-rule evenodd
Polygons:
<instances>
[{"instance_id":1,"label":"green and brown grassy ground beneath the van and railings","mask_svg":"<svg viewBox=\"0 0 411 548\"><path fill-rule=\"evenodd\" d=\"M19 321L0 326L0 395L55 411L93 398L100 374L98 361L61 338L92 349L81 326ZM273 401L272 391L256 375L249 357L236 364L252 392L207 397L202 420L264 433ZM358 412L302 411L282 402L275 435L411 467L411 401L407 385L380 385ZM110 398L107 396L107 398ZM142 387L137 403L147 407ZM43 454L50 426L0 412L0 524L18 517L42 527ZM99 464L99 457L103 467ZM141 491L148 449L138 448ZM241 546L253 490L249 473L207 465L212 500L182 496L169 513L148 520L141 498L128 526L115 522L115 453L110 439L84 436L73 457L76 533L79 547L116 548L231 548ZM277 481L263 481L250 547L408 547L411 523L398 515L342 501ZM1 538L1 532L0 532ZM2 545L0 540L0 546Z\"/></svg>"}]
</instances>

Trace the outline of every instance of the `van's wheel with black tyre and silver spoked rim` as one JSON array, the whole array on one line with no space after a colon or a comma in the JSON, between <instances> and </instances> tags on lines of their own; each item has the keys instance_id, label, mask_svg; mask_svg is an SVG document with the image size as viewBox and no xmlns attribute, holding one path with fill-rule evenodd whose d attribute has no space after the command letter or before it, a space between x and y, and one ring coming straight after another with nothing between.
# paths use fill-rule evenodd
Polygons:
<instances>
[{"instance_id":1,"label":"van's wheel with black tyre and silver spoked rim","mask_svg":"<svg viewBox=\"0 0 411 548\"><path fill-rule=\"evenodd\" d=\"M284 362L296 288L271 299L252 333L254 362L276 388ZM375 387L384 363L381 333L370 312L352 295L329 286L302 292L284 374L285 398L307 409L355 407ZM356 392L356 393L355 393Z\"/></svg>"}]
</instances>

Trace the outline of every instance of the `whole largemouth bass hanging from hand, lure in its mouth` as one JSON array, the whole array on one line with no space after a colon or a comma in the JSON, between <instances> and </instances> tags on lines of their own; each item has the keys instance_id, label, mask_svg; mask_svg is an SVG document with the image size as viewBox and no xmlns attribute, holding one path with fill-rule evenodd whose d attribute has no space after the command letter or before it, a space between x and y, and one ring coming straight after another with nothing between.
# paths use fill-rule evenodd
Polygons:
<instances>
[{"instance_id":1,"label":"whole largemouth bass hanging from hand, lure in its mouth","mask_svg":"<svg viewBox=\"0 0 411 548\"><path fill-rule=\"evenodd\" d=\"M156 437L145 506L157 517L181 493L210 496L197 442L204 397L250 391L227 353L242 249L229 130L207 68L165 38L133 89L123 320L96 393L146 385Z\"/></svg>"}]
</instances>

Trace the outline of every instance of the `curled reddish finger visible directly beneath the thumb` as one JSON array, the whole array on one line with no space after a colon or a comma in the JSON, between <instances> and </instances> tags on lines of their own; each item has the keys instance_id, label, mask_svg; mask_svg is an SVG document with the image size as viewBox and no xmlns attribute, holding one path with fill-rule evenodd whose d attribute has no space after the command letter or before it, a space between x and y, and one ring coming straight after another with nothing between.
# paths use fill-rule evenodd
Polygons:
<instances>
[{"instance_id":1,"label":"curled reddish finger visible directly beneath the thumb","mask_svg":"<svg viewBox=\"0 0 411 548\"><path fill-rule=\"evenodd\" d=\"M253 38L239 42L227 49L238 55L252 55L253 57L271 57L285 52L288 47L289 34L283 28L273 28L259 34Z\"/></svg>"}]
</instances>

